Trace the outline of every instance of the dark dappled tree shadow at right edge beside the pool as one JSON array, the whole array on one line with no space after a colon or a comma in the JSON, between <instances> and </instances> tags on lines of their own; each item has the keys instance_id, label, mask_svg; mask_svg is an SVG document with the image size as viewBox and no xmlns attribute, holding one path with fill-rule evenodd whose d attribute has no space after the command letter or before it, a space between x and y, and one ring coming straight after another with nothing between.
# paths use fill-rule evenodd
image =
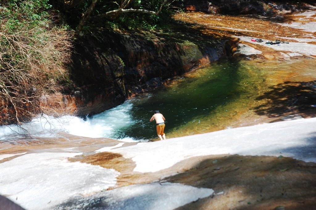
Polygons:
<instances>
[{"instance_id":1,"label":"dark dappled tree shadow at right edge beside the pool","mask_svg":"<svg viewBox=\"0 0 316 210\"><path fill-rule=\"evenodd\" d=\"M256 98L264 103L254 108L258 115L284 117L298 114L316 117L316 80L284 82L270 87L270 91Z\"/></svg>"}]
</instances>

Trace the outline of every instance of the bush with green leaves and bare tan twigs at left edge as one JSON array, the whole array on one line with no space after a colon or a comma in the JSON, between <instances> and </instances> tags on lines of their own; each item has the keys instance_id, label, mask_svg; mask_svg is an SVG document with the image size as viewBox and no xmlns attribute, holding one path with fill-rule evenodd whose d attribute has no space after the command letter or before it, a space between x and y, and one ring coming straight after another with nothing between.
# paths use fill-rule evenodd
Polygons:
<instances>
[{"instance_id":1,"label":"bush with green leaves and bare tan twigs at left edge","mask_svg":"<svg viewBox=\"0 0 316 210\"><path fill-rule=\"evenodd\" d=\"M55 23L48 0L0 4L0 105L4 123L27 121L40 111L42 95L67 80L71 34ZM61 79L63 78L63 79Z\"/></svg>"}]
</instances>

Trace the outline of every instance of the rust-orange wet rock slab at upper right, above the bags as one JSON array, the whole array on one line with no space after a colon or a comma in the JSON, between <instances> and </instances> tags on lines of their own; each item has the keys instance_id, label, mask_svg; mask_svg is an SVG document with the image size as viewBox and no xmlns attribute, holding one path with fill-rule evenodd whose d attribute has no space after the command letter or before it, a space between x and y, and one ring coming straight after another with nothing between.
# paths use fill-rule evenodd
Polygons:
<instances>
[{"instance_id":1,"label":"rust-orange wet rock slab at upper right, above the bags","mask_svg":"<svg viewBox=\"0 0 316 210\"><path fill-rule=\"evenodd\" d=\"M288 42L299 42L297 38L307 38L310 37L311 32L303 31L301 29L283 26L278 22L290 23L291 21L307 23L313 22L315 19L313 17L307 17L305 20L299 20L301 17L305 16L294 16L287 15L286 17L280 18L279 20L264 17L249 17L245 15L219 15L219 14L205 14L202 12L191 12L191 13L179 13L174 16L176 20L190 23L191 27L200 29L204 34L209 34L218 39L236 39L237 36L247 36L253 37L255 39L263 39L265 41L275 41L276 39L283 38L282 41ZM275 54L278 51L265 47L262 45L257 45L256 42L244 42L242 40L240 43L246 43L260 51L263 54ZM309 42L314 44L312 42ZM234 51L234 50L233 50ZM259 56L261 57L261 56ZM313 57L314 56L309 56ZM270 59L270 57L265 57ZM273 57L273 59L277 59ZM283 57L284 59L284 57Z\"/></svg>"}]
</instances>

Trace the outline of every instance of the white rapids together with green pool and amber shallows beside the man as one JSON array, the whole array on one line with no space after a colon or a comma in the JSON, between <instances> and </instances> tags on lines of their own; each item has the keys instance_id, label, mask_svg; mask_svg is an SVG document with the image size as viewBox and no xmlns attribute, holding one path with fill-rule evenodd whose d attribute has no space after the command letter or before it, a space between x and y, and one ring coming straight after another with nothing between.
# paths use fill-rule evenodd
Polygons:
<instances>
[{"instance_id":1,"label":"white rapids together with green pool and amber shallows beside the man","mask_svg":"<svg viewBox=\"0 0 316 210\"><path fill-rule=\"evenodd\" d=\"M291 61L222 59L86 120L74 116L41 116L23 125L25 130L15 125L0 126L0 140L22 138L27 141L31 139L27 134L52 137L66 132L122 141L154 141L157 140L155 122L149 122L154 110L166 118L167 138L256 124L266 117L256 113L258 107L274 106L269 97L258 97L278 84L315 80L314 66L314 59L304 58ZM281 101L278 106L286 106L287 101L282 104L282 99L287 96L282 91L274 97Z\"/></svg>"}]
</instances>

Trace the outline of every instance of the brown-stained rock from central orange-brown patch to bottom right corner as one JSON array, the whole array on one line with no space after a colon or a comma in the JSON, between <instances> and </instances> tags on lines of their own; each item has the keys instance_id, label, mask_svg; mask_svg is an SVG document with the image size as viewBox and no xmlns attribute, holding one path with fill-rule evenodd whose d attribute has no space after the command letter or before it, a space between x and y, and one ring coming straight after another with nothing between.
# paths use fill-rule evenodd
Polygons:
<instances>
[{"instance_id":1,"label":"brown-stained rock from central orange-brown patch to bottom right corner","mask_svg":"<svg viewBox=\"0 0 316 210\"><path fill-rule=\"evenodd\" d=\"M316 202L316 164L282 156L200 156L155 173L133 171L135 163L118 153L96 153L70 160L119 171L114 188L167 181L215 190L213 196L179 207L179 210L266 210L277 206L312 210Z\"/></svg>"}]
</instances>

